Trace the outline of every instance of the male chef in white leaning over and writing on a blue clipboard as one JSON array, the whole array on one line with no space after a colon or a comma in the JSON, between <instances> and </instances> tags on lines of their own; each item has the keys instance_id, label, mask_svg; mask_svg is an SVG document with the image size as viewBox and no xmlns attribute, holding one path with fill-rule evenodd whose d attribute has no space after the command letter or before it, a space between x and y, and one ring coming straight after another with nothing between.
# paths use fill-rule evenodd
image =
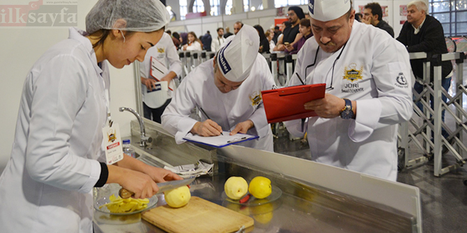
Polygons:
<instances>
[{"instance_id":1,"label":"male chef in white leaning over and writing on a blue clipboard","mask_svg":"<svg viewBox=\"0 0 467 233\"><path fill-rule=\"evenodd\" d=\"M273 132L266 120L261 90L275 85L268 63L258 55L259 35L245 25L234 40L188 74L162 114L162 127L177 143L191 132L200 136L242 133L259 136L238 145L273 151ZM190 118L201 111L201 122ZM210 119L209 119L210 118Z\"/></svg>"}]
</instances>

